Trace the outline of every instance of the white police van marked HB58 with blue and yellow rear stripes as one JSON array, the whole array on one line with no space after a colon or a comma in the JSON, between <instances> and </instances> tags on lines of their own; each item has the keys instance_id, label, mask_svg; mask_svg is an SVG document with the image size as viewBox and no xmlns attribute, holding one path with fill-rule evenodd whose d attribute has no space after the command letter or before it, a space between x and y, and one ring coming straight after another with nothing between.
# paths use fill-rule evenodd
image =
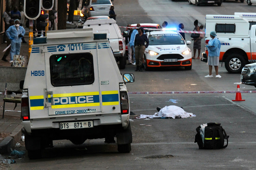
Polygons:
<instances>
[{"instance_id":1,"label":"white police van marked HB58 with blue and yellow rear stripes","mask_svg":"<svg viewBox=\"0 0 256 170\"><path fill-rule=\"evenodd\" d=\"M33 39L22 96L25 146L30 159L53 140L76 145L105 138L131 151L129 97L106 34L93 29L47 31Z\"/></svg>"}]
</instances>

